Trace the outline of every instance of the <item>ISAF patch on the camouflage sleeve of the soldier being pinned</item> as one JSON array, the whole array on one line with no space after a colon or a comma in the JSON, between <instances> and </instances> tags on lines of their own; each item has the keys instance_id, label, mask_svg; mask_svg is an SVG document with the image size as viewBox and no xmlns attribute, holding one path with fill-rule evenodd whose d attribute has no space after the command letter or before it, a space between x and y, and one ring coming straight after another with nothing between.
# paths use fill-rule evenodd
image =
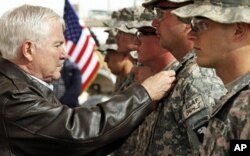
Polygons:
<instances>
[{"instance_id":1,"label":"ISAF patch on the camouflage sleeve of the soldier being pinned","mask_svg":"<svg viewBox=\"0 0 250 156\"><path fill-rule=\"evenodd\" d=\"M205 104L203 102L202 96L198 95L192 100L188 101L188 103L183 107L184 118L187 119L204 108Z\"/></svg>"}]
</instances>

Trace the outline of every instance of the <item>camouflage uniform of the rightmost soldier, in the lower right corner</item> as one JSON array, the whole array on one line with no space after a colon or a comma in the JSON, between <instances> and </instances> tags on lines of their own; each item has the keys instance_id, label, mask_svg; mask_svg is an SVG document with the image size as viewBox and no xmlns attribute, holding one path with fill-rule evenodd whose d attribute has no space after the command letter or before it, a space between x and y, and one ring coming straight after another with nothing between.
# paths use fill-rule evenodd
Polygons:
<instances>
[{"instance_id":1,"label":"camouflage uniform of the rightmost soldier, in the lower right corner","mask_svg":"<svg viewBox=\"0 0 250 156\"><path fill-rule=\"evenodd\" d=\"M227 86L213 110L201 155L229 155L229 141L250 136L250 72Z\"/></svg>"}]
</instances>

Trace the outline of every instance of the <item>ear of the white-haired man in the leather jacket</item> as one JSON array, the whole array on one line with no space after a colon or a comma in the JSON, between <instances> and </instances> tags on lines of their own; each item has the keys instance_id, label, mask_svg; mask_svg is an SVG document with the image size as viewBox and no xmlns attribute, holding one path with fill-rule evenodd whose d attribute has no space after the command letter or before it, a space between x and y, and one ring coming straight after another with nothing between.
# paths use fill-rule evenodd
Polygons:
<instances>
[{"instance_id":1,"label":"ear of the white-haired man in the leather jacket","mask_svg":"<svg viewBox=\"0 0 250 156\"><path fill-rule=\"evenodd\" d=\"M26 58L28 61L32 61L34 51L35 51L34 43L27 40L22 44L21 49L22 49L23 57Z\"/></svg>"}]
</instances>

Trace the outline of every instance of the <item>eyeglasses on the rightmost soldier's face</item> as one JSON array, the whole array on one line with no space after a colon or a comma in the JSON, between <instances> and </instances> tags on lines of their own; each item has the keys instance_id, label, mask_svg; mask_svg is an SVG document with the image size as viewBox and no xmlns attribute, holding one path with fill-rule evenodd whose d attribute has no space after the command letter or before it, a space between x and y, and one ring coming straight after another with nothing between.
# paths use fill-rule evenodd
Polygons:
<instances>
[{"instance_id":1,"label":"eyeglasses on the rightmost soldier's face","mask_svg":"<svg viewBox=\"0 0 250 156\"><path fill-rule=\"evenodd\" d=\"M207 30L208 24L205 22L206 18L203 17L194 17L191 20L191 28L195 33L200 33L204 30Z\"/></svg>"}]
</instances>

